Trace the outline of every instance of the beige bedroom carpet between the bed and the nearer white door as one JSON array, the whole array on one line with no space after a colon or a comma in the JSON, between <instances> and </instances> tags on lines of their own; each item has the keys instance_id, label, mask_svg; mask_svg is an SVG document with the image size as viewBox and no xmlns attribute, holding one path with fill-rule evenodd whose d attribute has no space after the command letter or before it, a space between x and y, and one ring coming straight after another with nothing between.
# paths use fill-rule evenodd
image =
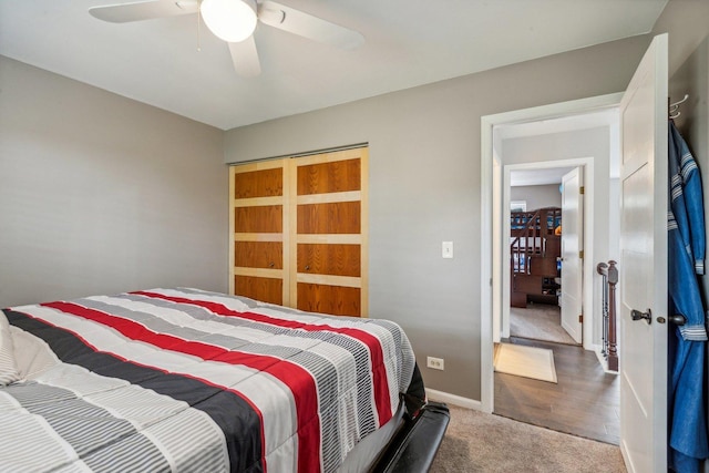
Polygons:
<instances>
[{"instance_id":1,"label":"beige bedroom carpet between the bed and the nearer white door","mask_svg":"<svg viewBox=\"0 0 709 473\"><path fill-rule=\"evenodd\" d=\"M431 473L625 473L620 449L449 405L451 422Z\"/></svg>"}]
</instances>

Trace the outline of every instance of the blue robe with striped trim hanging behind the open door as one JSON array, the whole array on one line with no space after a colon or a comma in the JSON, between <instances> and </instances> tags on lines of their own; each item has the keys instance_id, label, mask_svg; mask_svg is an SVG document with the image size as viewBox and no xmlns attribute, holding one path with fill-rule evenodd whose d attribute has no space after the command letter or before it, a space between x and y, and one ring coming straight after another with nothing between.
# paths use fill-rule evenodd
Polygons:
<instances>
[{"instance_id":1,"label":"blue robe with striped trim hanging behind the open door","mask_svg":"<svg viewBox=\"0 0 709 473\"><path fill-rule=\"evenodd\" d=\"M698 473L709 456L703 397L707 342L697 275L703 275L706 230L701 175L687 143L669 123L668 290L670 313L687 319L674 330L670 384L670 466Z\"/></svg>"}]
</instances>

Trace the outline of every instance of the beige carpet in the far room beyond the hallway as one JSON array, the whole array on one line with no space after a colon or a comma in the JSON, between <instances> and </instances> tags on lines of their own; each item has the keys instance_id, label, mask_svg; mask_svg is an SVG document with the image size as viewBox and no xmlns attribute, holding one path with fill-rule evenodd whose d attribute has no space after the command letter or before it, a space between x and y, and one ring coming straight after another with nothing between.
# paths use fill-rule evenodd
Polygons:
<instances>
[{"instance_id":1,"label":"beige carpet in the far room beyond the hallway","mask_svg":"<svg viewBox=\"0 0 709 473\"><path fill-rule=\"evenodd\" d=\"M511 307L510 337L578 345L566 330L562 328L562 312L559 307L546 304L528 304L526 309Z\"/></svg>"}]
</instances>

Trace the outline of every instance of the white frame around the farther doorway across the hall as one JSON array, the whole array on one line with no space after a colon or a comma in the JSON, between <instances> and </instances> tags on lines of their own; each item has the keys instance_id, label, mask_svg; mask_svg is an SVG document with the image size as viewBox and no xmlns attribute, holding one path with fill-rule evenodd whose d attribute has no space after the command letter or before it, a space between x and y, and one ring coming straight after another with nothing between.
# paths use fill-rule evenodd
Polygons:
<instances>
[{"instance_id":1,"label":"white frame around the farther doorway across the hall","mask_svg":"<svg viewBox=\"0 0 709 473\"><path fill-rule=\"evenodd\" d=\"M594 300L593 300L593 280L594 280L594 270L595 266L594 261L594 158L593 157L576 157L568 160L557 160L557 161L541 161L536 163L522 163L522 164L504 164L503 158L503 168L504 168L504 177L503 183L493 181L493 195L503 194L503 207L502 214L497 213L493 207L493 218L495 215L501 215L502 217L502 228L503 236L502 241L510 241L512 229L510 228L510 175L514 171L527 171L527 169L552 169L555 167L583 167L584 168L584 270L583 270L583 312L586 315L584 317L582 332L583 332L583 346L585 349L590 350L594 349L593 343L593 317L594 313ZM500 186L502 185L502 188ZM563 225L563 224L562 224ZM503 261L502 266L502 276L501 276L501 308L502 312L497 312L495 310L492 311L492 320L493 327L501 326L501 335L502 337L510 337L510 265L504 264L504 261L510 261L510 245L501 245L502 246L502 256L500 261ZM496 258L495 248L493 248L493 258ZM493 265L493 268L495 265ZM494 281L493 281L494 286ZM562 287L562 290L564 288ZM497 338L494 341L500 341Z\"/></svg>"}]
</instances>

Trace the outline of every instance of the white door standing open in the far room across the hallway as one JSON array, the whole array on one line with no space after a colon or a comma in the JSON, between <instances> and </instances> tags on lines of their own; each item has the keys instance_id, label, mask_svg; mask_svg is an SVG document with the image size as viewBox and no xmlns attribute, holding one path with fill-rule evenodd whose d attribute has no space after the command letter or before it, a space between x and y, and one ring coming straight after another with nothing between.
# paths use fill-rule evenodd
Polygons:
<instances>
[{"instance_id":1,"label":"white door standing open in the far room across the hallway","mask_svg":"<svg viewBox=\"0 0 709 473\"><path fill-rule=\"evenodd\" d=\"M562 177L562 327L576 343L582 340L584 249L583 168Z\"/></svg>"}]
</instances>

